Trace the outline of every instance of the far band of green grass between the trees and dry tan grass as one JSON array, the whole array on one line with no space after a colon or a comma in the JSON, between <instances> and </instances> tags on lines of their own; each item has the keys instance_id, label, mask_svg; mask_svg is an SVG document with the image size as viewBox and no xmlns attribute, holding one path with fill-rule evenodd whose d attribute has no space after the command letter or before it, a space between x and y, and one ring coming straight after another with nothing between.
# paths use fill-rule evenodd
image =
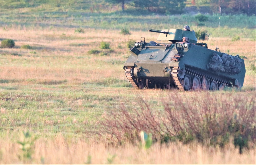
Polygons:
<instances>
[{"instance_id":1,"label":"far band of green grass between the trees and dry tan grass","mask_svg":"<svg viewBox=\"0 0 256 165\"><path fill-rule=\"evenodd\" d=\"M180 29L188 24L195 31L207 30L211 37L239 35L241 38L255 39L255 16L222 14L220 29L216 30L219 27L219 14L205 15L208 20L202 24L198 23L197 15L155 15L146 11L139 12L132 8L128 8L125 12L111 11L109 8L99 12L91 12L90 10L69 6L68 4L71 1L63 2L61 7L52 6L52 4L58 4L58 1L56 2L49 3L45 1L40 7L35 3L34 6L29 8L14 8L11 10L5 10L4 7L0 8L2 22L0 26L42 29L63 26L76 28L75 31L78 33L82 33L86 28L115 29L117 33L120 33L122 29L135 31ZM100 3L100 1L98 2ZM82 1L79 1L76 4L81 3ZM88 5L97 6L97 3L88 3ZM63 39L69 38L68 36L62 37Z\"/></svg>"}]
</instances>

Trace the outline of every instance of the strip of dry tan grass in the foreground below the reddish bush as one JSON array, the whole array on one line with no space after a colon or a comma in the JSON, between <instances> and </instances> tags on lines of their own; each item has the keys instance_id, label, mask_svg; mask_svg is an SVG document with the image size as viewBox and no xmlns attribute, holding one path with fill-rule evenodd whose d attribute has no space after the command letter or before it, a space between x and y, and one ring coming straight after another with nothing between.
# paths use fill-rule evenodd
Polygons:
<instances>
[{"instance_id":1,"label":"strip of dry tan grass in the foreground below the reddish bush","mask_svg":"<svg viewBox=\"0 0 256 165\"><path fill-rule=\"evenodd\" d=\"M0 143L3 158L0 163L23 163L17 157L21 152L19 145L7 139L0 139L5 142ZM61 134L54 139L40 138L34 147L33 157L27 163L84 164L90 160L92 164L106 164L112 158L115 164L255 164L256 154L254 149L241 155L232 144L220 149L196 142L188 145L172 142L168 146L155 143L148 150L131 144L106 147L104 143L88 143L79 139L70 142Z\"/></svg>"}]
</instances>

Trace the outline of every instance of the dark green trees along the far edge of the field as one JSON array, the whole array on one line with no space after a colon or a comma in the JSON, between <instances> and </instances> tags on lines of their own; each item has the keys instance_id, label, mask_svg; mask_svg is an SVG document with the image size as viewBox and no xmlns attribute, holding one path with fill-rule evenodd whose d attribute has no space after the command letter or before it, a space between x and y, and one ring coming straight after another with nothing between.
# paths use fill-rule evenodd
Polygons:
<instances>
[{"instance_id":1,"label":"dark green trees along the far edge of the field","mask_svg":"<svg viewBox=\"0 0 256 165\"><path fill-rule=\"evenodd\" d=\"M125 4L129 4L138 9L147 9L156 13L181 14L185 9L187 0L104 0L107 3L121 4L125 10ZM213 13L226 14L256 14L255 0L191 0L192 5L208 5Z\"/></svg>"}]
</instances>

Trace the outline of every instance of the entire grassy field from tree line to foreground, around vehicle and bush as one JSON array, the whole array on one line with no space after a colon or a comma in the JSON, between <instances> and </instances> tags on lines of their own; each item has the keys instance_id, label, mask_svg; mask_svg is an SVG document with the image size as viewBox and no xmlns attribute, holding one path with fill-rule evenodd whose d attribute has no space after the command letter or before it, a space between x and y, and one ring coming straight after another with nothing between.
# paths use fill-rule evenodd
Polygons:
<instances>
[{"instance_id":1,"label":"entire grassy field from tree line to foreground, around vehicle and bush","mask_svg":"<svg viewBox=\"0 0 256 165\"><path fill-rule=\"evenodd\" d=\"M250 141L249 149L239 154L233 137L225 147L195 140L189 144L156 142L146 150L138 141L116 147L109 135L98 135L105 114L118 112L122 105L131 112L140 109L141 98L154 112L163 112L164 100L174 95L191 105L193 99L198 103L206 95L228 99L230 104L237 100L234 98L255 98L255 16L223 15L218 29L218 15L207 15L208 21L199 26L193 15L142 15L134 10L121 13L114 6L95 5L90 4L95 7L92 12L89 7L49 3L0 8L0 41L15 41L14 48L0 48L0 163L255 164L255 143ZM148 29L180 29L185 24L195 31L208 31L209 40L199 41L206 42L208 48L215 49L218 44L221 52L244 58L246 76L241 90L132 88L123 70L130 55L127 42L140 41L140 37L155 41L158 34ZM123 28L131 35L121 35ZM240 39L232 41L235 36ZM102 41L109 43L110 49L101 49ZM24 48L26 45L30 49ZM90 54L92 50L98 53ZM208 104L208 100L202 104ZM29 132L26 138L22 131Z\"/></svg>"}]
</instances>

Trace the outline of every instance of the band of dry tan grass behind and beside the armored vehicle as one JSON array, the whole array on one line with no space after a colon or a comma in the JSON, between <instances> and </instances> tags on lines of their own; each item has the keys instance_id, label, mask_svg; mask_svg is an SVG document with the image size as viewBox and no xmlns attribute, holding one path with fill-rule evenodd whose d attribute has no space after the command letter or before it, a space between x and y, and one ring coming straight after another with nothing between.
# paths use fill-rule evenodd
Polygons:
<instances>
[{"instance_id":1,"label":"band of dry tan grass behind and beside the armored vehicle","mask_svg":"<svg viewBox=\"0 0 256 165\"><path fill-rule=\"evenodd\" d=\"M123 65L129 56L126 42L129 39L138 41L145 37L146 41L155 40L157 34L131 31L132 35L124 36L109 30L85 29L85 33L74 33L75 29L7 29L1 31L2 39L15 40L15 48L2 48L0 79L36 79L37 81L67 80L70 83L83 83L93 79L116 77L125 80ZM218 40L218 41L217 41ZM98 49L100 42L110 43L114 52L109 56L88 55L91 49ZM210 49L218 47L222 52L246 56L247 74L245 88L255 86L255 74L250 65L255 63L255 42L241 39L232 42L228 38L210 38L207 43ZM20 49L22 45L30 45L34 49ZM82 46L75 46L82 44ZM118 48L121 45L122 48ZM36 54L34 54L35 52ZM14 56L11 54L19 54ZM6 55L4 55L6 54ZM115 63L115 65L112 64ZM112 65L111 65L112 64Z\"/></svg>"}]
</instances>

